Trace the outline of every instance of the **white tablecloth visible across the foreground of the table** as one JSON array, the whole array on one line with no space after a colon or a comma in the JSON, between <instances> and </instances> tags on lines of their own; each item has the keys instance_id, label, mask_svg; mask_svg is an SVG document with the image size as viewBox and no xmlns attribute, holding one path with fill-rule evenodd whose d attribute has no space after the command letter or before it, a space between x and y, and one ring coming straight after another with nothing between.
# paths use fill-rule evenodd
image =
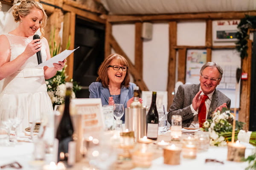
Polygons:
<instances>
[{"instance_id":1,"label":"white tablecloth visible across the foreground of the table","mask_svg":"<svg viewBox=\"0 0 256 170\"><path fill-rule=\"evenodd\" d=\"M252 153L254 147L248 145L245 151L245 157ZM28 142L19 142L15 146L0 147L0 166L14 161L19 162L23 168L22 170L41 170L39 167L32 166L34 144ZM217 159L223 161L224 164L210 162L205 163L205 159ZM47 154L46 164L52 160L52 155ZM35 162L34 162L35 163ZM152 165L147 170L244 170L248 166L247 162L233 162L227 161L227 147L209 147L207 152L197 154L196 159L183 159L180 157L180 165L163 164L163 157L155 159ZM73 167L77 169L80 166ZM142 168L135 168L134 170L141 170ZM4 170L14 170L13 168L5 168Z\"/></svg>"}]
</instances>

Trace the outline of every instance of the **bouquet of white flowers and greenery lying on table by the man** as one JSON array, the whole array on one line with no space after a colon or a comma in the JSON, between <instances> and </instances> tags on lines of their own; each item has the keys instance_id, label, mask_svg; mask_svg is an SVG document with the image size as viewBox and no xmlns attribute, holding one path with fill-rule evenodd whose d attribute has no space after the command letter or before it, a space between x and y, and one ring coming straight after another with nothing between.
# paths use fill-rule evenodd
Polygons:
<instances>
[{"instance_id":1,"label":"bouquet of white flowers and greenery lying on table by the man","mask_svg":"<svg viewBox=\"0 0 256 170\"><path fill-rule=\"evenodd\" d=\"M212 119L204 122L202 130L209 132L211 145L225 146L232 138L234 116L230 111L224 108L222 111L213 113L212 117ZM237 140L237 135L243 125L244 122L236 121L235 140ZM250 144L256 144L256 132L251 133Z\"/></svg>"}]
</instances>

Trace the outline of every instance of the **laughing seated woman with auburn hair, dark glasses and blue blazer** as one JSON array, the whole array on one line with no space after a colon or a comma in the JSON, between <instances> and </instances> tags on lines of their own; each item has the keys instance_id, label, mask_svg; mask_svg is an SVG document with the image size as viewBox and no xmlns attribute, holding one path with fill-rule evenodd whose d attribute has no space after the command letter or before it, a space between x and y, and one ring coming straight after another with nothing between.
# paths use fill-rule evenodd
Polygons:
<instances>
[{"instance_id":1,"label":"laughing seated woman with auburn hair, dark glasses and blue blazer","mask_svg":"<svg viewBox=\"0 0 256 170\"><path fill-rule=\"evenodd\" d=\"M134 88L130 82L127 60L119 54L109 55L99 66L96 81L90 84L90 98L101 98L102 105L123 104L124 108L133 102ZM140 99L142 102L142 99ZM124 122L125 115L121 120Z\"/></svg>"}]
</instances>

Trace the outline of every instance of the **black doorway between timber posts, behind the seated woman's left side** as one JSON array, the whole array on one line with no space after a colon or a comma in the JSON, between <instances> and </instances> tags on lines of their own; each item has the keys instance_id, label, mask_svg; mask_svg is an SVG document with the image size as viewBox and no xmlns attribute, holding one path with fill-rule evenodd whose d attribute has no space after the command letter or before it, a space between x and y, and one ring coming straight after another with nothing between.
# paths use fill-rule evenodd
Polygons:
<instances>
[{"instance_id":1,"label":"black doorway between timber posts, behind the seated woman's left side","mask_svg":"<svg viewBox=\"0 0 256 170\"><path fill-rule=\"evenodd\" d=\"M96 81L99 65L104 60L105 25L76 18L73 79L82 90L77 98L89 97L89 85Z\"/></svg>"}]
</instances>

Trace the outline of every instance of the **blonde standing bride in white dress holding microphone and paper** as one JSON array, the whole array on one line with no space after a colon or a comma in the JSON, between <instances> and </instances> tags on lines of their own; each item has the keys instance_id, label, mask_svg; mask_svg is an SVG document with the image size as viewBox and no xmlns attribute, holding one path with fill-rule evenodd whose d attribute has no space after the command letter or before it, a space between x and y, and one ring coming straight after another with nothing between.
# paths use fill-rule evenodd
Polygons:
<instances>
[{"instance_id":1,"label":"blonde standing bride in white dress holding microphone and paper","mask_svg":"<svg viewBox=\"0 0 256 170\"><path fill-rule=\"evenodd\" d=\"M44 38L47 15L41 3L35 0L22 0L11 9L11 22L16 22L17 26L12 30L9 26L15 24L5 23L9 32L0 35L0 79L3 79L0 114L9 109L23 113L22 127L25 128L42 113L52 113L45 79L61 70L65 60L54 63L51 68L36 68L38 51L41 51L43 62L50 59L49 45ZM41 40L33 40L38 30Z\"/></svg>"}]
</instances>

